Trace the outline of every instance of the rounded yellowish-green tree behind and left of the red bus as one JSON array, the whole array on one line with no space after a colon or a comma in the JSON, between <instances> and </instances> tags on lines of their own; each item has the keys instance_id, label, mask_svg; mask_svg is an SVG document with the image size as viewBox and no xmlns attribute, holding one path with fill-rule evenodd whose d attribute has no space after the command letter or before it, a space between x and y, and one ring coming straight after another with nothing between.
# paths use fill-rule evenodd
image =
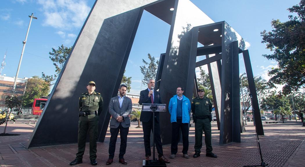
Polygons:
<instances>
[{"instance_id":1,"label":"rounded yellowish-green tree behind and left of the red bus","mask_svg":"<svg viewBox=\"0 0 305 167\"><path fill-rule=\"evenodd\" d=\"M31 106L35 98L48 96L49 92L50 87L48 83L38 76L33 76L27 80L27 89L25 89L23 96L23 106Z\"/></svg>"}]
</instances>

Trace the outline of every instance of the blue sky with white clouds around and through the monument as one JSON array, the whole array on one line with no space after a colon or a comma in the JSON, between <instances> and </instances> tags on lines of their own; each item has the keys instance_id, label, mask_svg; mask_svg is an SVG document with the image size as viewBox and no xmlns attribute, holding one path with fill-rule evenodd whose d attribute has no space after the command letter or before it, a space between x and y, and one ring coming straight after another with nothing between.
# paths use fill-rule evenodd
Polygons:
<instances>
[{"instance_id":1,"label":"blue sky with white clouds around and through the monument","mask_svg":"<svg viewBox=\"0 0 305 167\"><path fill-rule=\"evenodd\" d=\"M23 55L18 78L41 76L55 73L55 67L49 59L49 52L61 44L70 47L74 44L84 20L87 18L94 0L2 0L0 7L0 60L5 59L6 66L2 75L16 75L22 41L25 39L31 13L33 19ZM191 0L213 21L226 21L248 43L249 54L255 76L268 80L267 71L275 67L275 61L267 60L263 54L270 54L266 45L261 43L260 32L271 30L271 20L285 22L290 14L287 9L298 4L299 0ZM144 11L138 27L135 41L127 62L126 76L132 77L131 93L141 90L139 66L147 54L159 59L165 53L170 25ZM205 67L203 67L206 69ZM240 73L245 72L240 55ZM198 71L197 71L198 74ZM142 85L145 89L146 85Z\"/></svg>"}]
</instances>

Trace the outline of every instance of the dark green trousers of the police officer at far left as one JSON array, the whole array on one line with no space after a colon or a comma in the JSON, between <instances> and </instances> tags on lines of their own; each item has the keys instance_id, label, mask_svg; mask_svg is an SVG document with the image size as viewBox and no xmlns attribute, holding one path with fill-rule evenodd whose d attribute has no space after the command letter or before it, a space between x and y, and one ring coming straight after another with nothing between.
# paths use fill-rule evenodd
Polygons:
<instances>
[{"instance_id":1,"label":"dark green trousers of the police officer at far left","mask_svg":"<svg viewBox=\"0 0 305 167\"><path fill-rule=\"evenodd\" d=\"M79 117L78 121L78 152L76 154L77 160L82 160L85 147L86 147L86 137L87 132L89 135L89 154L90 160L96 159L96 140L98 134L98 123L99 116L98 115L88 115Z\"/></svg>"}]
</instances>

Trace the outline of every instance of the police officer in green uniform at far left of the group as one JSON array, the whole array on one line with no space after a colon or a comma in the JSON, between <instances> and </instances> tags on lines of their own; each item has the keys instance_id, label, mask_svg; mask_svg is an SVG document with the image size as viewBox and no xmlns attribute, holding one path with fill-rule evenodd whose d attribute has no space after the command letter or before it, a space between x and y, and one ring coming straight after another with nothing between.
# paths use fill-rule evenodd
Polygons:
<instances>
[{"instance_id":1,"label":"police officer in green uniform at far left of the group","mask_svg":"<svg viewBox=\"0 0 305 167\"><path fill-rule=\"evenodd\" d=\"M78 121L78 152L74 161L70 165L83 162L83 155L86 146L87 132L90 143L90 164L97 165L96 162L96 140L98 134L99 115L103 109L103 98L100 93L95 92L95 82L90 81L87 86L88 92L79 97L79 121Z\"/></svg>"}]
</instances>

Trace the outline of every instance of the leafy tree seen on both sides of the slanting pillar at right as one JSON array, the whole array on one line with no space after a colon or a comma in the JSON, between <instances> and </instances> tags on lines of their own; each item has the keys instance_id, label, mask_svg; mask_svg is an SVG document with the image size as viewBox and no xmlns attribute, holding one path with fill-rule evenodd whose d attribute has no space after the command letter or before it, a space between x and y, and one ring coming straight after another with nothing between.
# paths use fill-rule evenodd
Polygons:
<instances>
[{"instance_id":1,"label":"leafy tree seen on both sides of the slanting pillar at right","mask_svg":"<svg viewBox=\"0 0 305 167\"><path fill-rule=\"evenodd\" d=\"M248 111L249 108L252 106L251 99L250 99L250 89L248 83L248 77L243 77L246 73L243 73L239 76L239 80L241 81L239 84L240 87L240 101L244 102L242 111ZM260 76L254 77L254 83L256 88L257 97L260 100L260 97L265 96L274 85L270 85L267 83L265 79ZM242 92L243 91L243 92ZM242 99L243 98L243 99Z\"/></svg>"}]
</instances>

